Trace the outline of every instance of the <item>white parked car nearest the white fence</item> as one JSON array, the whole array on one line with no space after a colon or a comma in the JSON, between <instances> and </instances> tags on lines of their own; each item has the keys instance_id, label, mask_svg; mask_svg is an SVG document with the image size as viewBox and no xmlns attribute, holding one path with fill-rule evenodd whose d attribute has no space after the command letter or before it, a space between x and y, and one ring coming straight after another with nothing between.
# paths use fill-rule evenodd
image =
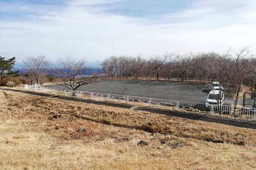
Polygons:
<instances>
[{"instance_id":1,"label":"white parked car nearest the white fence","mask_svg":"<svg viewBox=\"0 0 256 170\"><path fill-rule=\"evenodd\" d=\"M205 102L205 106L206 107L210 107L211 105L218 105L218 100L219 103L221 105L223 105L223 101L224 101L224 93L222 90L212 90L210 91L206 102ZM214 106L214 107L218 107L218 106Z\"/></svg>"}]
</instances>

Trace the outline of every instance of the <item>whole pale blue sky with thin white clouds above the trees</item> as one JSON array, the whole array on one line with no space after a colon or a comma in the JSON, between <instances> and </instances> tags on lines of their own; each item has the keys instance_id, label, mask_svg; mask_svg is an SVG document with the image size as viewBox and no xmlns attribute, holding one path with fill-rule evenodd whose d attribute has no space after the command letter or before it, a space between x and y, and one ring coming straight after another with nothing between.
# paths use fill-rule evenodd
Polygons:
<instances>
[{"instance_id":1,"label":"whole pale blue sky with thin white clouds above the trees","mask_svg":"<svg viewBox=\"0 0 256 170\"><path fill-rule=\"evenodd\" d=\"M256 51L254 0L0 0L0 56L150 58Z\"/></svg>"}]
</instances>

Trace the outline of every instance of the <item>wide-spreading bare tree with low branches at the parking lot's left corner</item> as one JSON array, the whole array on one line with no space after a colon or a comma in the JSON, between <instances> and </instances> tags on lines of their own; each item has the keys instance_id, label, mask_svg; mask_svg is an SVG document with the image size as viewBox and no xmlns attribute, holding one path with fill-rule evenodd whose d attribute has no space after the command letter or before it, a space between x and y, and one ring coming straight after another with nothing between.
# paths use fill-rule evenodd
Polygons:
<instances>
[{"instance_id":1,"label":"wide-spreading bare tree with low branches at the parking lot's left corner","mask_svg":"<svg viewBox=\"0 0 256 170\"><path fill-rule=\"evenodd\" d=\"M86 60L72 60L71 57L65 57L61 59L60 62L49 71L59 77L63 83L58 84L65 86L72 91L72 95L75 96L75 90L82 86L88 84L95 84L102 81L105 76L101 76L97 72L89 77L82 77L84 73L89 69L85 66Z\"/></svg>"}]
</instances>

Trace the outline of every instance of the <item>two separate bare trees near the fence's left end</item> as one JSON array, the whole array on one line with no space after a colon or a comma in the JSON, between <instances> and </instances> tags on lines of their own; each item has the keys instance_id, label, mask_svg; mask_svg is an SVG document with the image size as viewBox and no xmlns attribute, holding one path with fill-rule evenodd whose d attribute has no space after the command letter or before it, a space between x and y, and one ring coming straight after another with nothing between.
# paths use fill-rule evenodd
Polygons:
<instances>
[{"instance_id":1,"label":"two separate bare trees near the fence's left end","mask_svg":"<svg viewBox=\"0 0 256 170\"><path fill-rule=\"evenodd\" d=\"M28 70L28 75L33 84L34 80L39 83L42 76L47 72L58 77L59 80L56 84L65 86L72 91L72 95L75 96L75 90L82 85L95 84L104 79L104 76L93 73L88 77L83 75L89 69L86 66L86 60L76 60L67 56L56 64L51 64L44 56L28 57L23 60L25 67Z\"/></svg>"}]
</instances>

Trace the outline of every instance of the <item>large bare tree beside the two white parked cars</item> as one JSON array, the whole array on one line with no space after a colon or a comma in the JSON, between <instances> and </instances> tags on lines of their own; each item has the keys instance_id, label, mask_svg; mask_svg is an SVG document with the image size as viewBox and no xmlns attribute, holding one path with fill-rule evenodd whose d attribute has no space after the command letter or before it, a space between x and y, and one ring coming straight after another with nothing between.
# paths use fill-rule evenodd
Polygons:
<instances>
[{"instance_id":1,"label":"large bare tree beside the two white parked cars","mask_svg":"<svg viewBox=\"0 0 256 170\"><path fill-rule=\"evenodd\" d=\"M224 100L228 96L236 92L238 84L241 83L242 76L242 57L247 56L247 49L242 49L239 53L232 53L232 49L228 49L225 54L212 54L212 60L205 62L203 67L205 79L210 80L209 89L212 88L212 82L219 82L219 89L224 90ZM208 58L209 59L209 58ZM217 94L217 104L222 105L224 100Z\"/></svg>"}]
</instances>

